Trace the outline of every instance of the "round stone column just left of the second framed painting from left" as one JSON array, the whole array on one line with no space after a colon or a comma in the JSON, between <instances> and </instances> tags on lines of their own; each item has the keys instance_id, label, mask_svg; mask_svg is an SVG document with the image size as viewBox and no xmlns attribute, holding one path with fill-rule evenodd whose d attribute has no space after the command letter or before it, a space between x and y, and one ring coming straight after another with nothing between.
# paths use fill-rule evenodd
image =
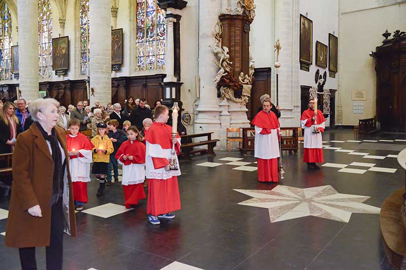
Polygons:
<instances>
[{"instance_id":1,"label":"round stone column just left of the second framed painting from left","mask_svg":"<svg viewBox=\"0 0 406 270\"><path fill-rule=\"evenodd\" d=\"M90 0L90 104L111 102L111 9L110 0ZM93 30L92 30L93 29Z\"/></svg>"}]
</instances>

